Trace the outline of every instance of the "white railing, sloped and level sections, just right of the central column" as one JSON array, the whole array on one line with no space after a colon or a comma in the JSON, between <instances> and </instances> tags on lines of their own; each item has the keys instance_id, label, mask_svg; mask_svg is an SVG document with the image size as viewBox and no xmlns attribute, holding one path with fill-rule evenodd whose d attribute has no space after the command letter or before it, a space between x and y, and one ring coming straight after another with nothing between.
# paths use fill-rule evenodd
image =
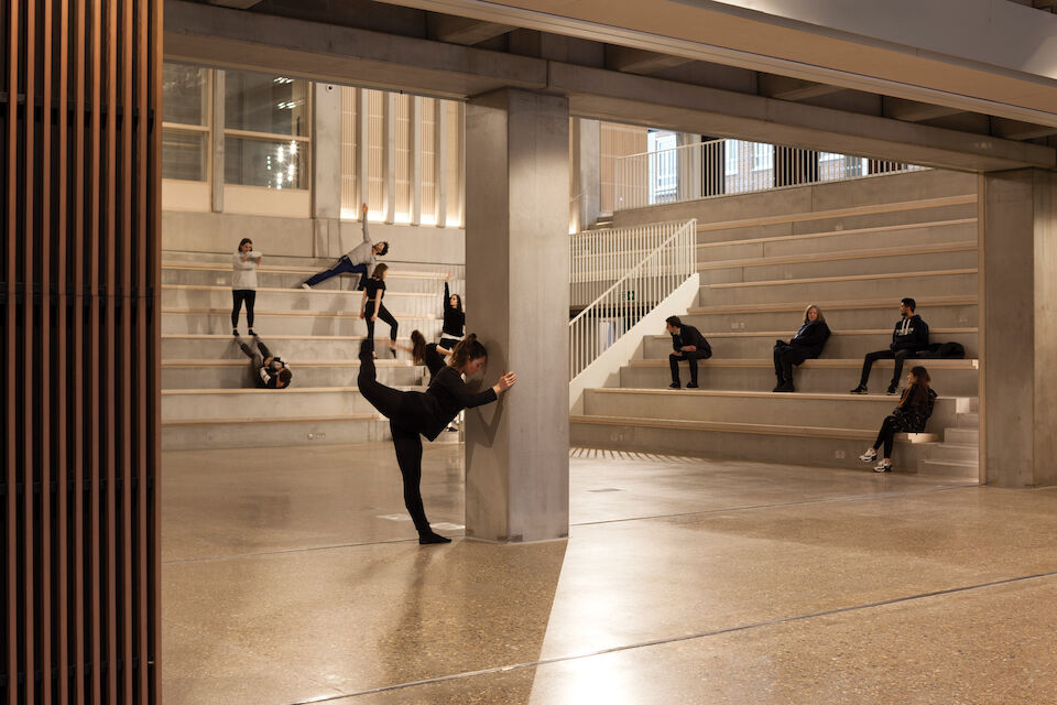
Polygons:
<instances>
[{"instance_id":1,"label":"white railing, sloped and level sections, just right of the central column","mask_svg":"<svg viewBox=\"0 0 1057 705\"><path fill-rule=\"evenodd\" d=\"M697 271L697 220L571 236L569 379ZM600 293L596 293L600 292Z\"/></svg>"}]
</instances>

